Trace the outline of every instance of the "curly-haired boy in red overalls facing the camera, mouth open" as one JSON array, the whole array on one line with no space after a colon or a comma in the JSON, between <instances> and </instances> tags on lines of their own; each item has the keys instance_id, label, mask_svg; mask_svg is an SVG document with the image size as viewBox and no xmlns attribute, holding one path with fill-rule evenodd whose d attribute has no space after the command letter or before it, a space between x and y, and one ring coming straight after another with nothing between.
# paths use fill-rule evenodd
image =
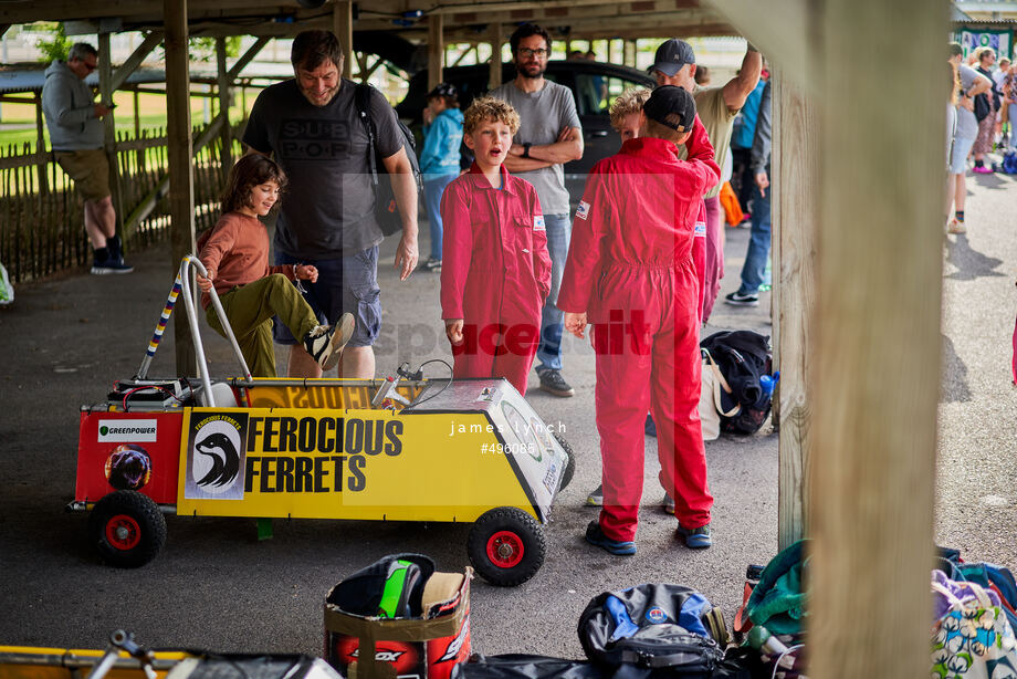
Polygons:
<instances>
[{"instance_id":1,"label":"curly-haired boy in red overalls facing the camera, mouth open","mask_svg":"<svg viewBox=\"0 0 1017 679\"><path fill-rule=\"evenodd\" d=\"M475 160L441 199L441 317L454 377L504 377L525 395L551 255L536 190L502 167L518 127L515 109L492 97L464 114Z\"/></svg>"}]
</instances>

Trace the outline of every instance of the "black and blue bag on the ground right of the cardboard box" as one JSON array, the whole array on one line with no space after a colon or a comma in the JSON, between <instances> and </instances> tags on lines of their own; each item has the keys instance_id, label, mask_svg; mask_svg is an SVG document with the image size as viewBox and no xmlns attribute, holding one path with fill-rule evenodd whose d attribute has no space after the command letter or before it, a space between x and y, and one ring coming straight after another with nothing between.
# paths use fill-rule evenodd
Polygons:
<instances>
[{"instance_id":1,"label":"black and blue bag on the ground right of the cardboard box","mask_svg":"<svg viewBox=\"0 0 1017 679\"><path fill-rule=\"evenodd\" d=\"M646 584L595 597L579 617L586 656L611 679L747 679L724 660L724 616L683 585Z\"/></svg>"}]
</instances>

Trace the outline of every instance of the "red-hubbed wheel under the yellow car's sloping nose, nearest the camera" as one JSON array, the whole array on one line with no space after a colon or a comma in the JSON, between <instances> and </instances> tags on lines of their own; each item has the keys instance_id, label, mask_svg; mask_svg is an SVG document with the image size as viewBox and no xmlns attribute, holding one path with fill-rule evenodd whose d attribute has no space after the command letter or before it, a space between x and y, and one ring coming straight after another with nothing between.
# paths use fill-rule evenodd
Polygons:
<instances>
[{"instance_id":1,"label":"red-hubbed wheel under the yellow car's sloping nose, nearest the camera","mask_svg":"<svg viewBox=\"0 0 1017 679\"><path fill-rule=\"evenodd\" d=\"M533 577L544 564L545 551L541 524L514 506L481 514L466 540L473 568L499 587L514 587Z\"/></svg>"}]
</instances>

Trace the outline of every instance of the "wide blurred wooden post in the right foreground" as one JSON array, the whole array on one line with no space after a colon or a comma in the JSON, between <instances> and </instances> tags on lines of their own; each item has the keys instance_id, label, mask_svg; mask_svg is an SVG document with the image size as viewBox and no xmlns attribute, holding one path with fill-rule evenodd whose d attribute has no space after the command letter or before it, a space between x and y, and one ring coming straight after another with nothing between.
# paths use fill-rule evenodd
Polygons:
<instances>
[{"instance_id":1,"label":"wide blurred wooden post in the right foreground","mask_svg":"<svg viewBox=\"0 0 1017 679\"><path fill-rule=\"evenodd\" d=\"M858 41L939 65L948 4L819 8L808 676L929 677L946 93Z\"/></svg>"}]
</instances>

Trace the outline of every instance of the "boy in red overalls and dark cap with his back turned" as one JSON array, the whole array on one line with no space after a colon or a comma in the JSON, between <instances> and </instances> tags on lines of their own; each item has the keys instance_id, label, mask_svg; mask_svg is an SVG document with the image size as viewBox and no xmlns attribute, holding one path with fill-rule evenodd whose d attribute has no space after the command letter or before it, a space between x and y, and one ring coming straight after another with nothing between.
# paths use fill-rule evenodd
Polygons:
<instances>
[{"instance_id":1,"label":"boy in red overalls and dark cap with his back turned","mask_svg":"<svg viewBox=\"0 0 1017 679\"><path fill-rule=\"evenodd\" d=\"M594 324L604 508L586 540L619 555L636 553L647 409L678 535L690 547L712 544L692 244L701 197L721 171L684 90L654 90L642 119L639 138L590 173L558 296L566 330L581 337Z\"/></svg>"}]
</instances>

